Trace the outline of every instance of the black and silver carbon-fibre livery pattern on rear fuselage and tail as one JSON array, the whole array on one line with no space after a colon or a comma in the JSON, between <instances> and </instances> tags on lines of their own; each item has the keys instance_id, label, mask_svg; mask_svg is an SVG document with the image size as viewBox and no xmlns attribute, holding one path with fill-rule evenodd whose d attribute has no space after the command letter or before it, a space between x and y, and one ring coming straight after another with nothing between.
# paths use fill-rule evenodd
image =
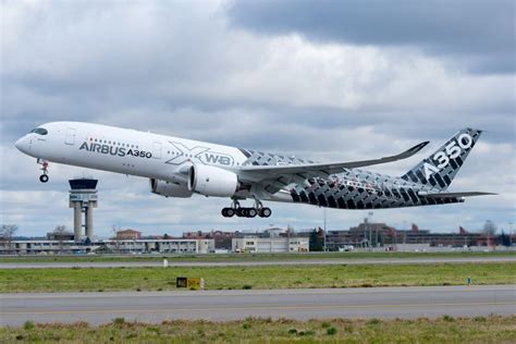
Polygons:
<instances>
[{"instance_id":1,"label":"black and silver carbon-fibre livery pattern on rear fuselage and tail","mask_svg":"<svg viewBox=\"0 0 516 344\"><path fill-rule=\"evenodd\" d=\"M419 192L435 194L445 191L465 162L480 134L480 131L472 128L459 131L429 158L419 162L401 177L352 169L343 170L343 173L333 174L329 177L307 179L304 183L293 183L286 189L290 191L294 202L339 209L381 209L463 202L463 197L428 197L419 195ZM468 137L470 142L467 142ZM458 143L460 138L464 139L463 143ZM457 148L453 148L454 146ZM460 151L452 148L460 148ZM244 162L247 165L314 163L310 160L241 150L247 157ZM447 163L441 169L438 168L439 159L435 160L437 155L447 157ZM457 157L452 159L451 157L455 155ZM426 163L433 169L430 171L432 173L428 180L425 171Z\"/></svg>"}]
</instances>

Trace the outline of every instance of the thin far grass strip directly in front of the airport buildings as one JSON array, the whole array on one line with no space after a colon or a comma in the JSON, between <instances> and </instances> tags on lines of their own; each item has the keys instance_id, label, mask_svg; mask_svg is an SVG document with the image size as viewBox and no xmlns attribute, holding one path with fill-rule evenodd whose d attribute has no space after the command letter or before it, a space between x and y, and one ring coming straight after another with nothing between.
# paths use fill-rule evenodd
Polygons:
<instances>
[{"instance_id":1,"label":"thin far grass strip directly in front of the airport buildings","mask_svg":"<svg viewBox=\"0 0 516 344\"><path fill-rule=\"evenodd\" d=\"M490 253L309 253L309 254L226 254L226 255L81 255L81 256L0 256L2 262L77 262L77 261L263 261L263 260L296 260L296 259L367 259L367 258L469 258L469 257L516 257L516 251Z\"/></svg>"}]
</instances>

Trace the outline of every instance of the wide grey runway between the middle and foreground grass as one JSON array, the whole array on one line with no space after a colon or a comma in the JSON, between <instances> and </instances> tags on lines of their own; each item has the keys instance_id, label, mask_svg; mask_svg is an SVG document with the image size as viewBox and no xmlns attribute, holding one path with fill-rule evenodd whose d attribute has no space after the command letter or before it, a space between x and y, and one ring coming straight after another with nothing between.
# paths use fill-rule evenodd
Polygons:
<instances>
[{"instance_id":1,"label":"wide grey runway between the middle and foreground grass","mask_svg":"<svg viewBox=\"0 0 516 344\"><path fill-rule=\"evenodd\" d=\"M516 314L516 285L272 291L0 294L0 325L271 317L418 318Z\"/></svg>"}]
</instances>

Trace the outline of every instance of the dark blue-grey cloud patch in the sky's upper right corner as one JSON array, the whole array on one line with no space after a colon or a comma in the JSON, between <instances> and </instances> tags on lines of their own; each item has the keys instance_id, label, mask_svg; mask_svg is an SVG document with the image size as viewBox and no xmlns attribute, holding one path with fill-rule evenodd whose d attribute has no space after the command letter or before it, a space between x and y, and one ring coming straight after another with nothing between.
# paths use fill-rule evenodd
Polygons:
<instances>
[{"instance_id":1,"label":"dark blue-grey cloud patch in the sky's upper right corner","mask_svg":"<svg viewBox=\"0 0 516 344\"><path fill-rule=\"evenodd\" d=\"M415 47L460 58L478 73L514 73L511 0L234 1L231 23L266 35L299 33L316 41Z\"/></svg>"}]
</instances>

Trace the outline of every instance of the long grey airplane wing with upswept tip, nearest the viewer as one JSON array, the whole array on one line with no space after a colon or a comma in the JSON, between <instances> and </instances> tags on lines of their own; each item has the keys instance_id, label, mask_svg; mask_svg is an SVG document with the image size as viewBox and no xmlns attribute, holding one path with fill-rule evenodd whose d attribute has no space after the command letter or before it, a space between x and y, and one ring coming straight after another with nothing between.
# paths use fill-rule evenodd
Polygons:
<instances>
[{"instance_id":1,"label":"long grey airplane wing with upswept tip, nearest the viewer","mask_svg":"<svg viewBox=\"0 0 516 344\"><path fill-rule=\"evenodd\" d=\"M286 186L292 182L305 181L312 176L328 176L343 172L343 169L355 169L363 168L372 164L392 162L401 159L406 159L414 156L425 146L428 142L421 143L411 147L410 149L395 155L383 157L373 160L361 160L351 162L333 162L333 163L308 163L308 164L290 164L290 165L245 165L239 167L235 170L242 180L260 183L263 181L270 181L269 185L277 184L277 188Z\"/></svg>"}]
</instances>

